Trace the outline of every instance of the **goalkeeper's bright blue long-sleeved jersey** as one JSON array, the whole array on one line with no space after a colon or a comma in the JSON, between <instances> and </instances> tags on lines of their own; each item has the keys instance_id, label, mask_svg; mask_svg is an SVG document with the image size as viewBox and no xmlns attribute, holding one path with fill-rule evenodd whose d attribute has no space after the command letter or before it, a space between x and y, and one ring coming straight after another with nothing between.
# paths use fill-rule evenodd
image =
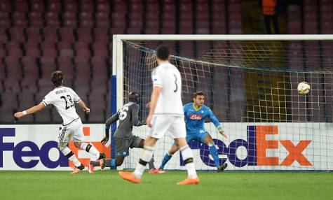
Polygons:
<instances>
[{"instance_id":1,"label":"goalkeeper's bright blue long-sleeved jersey","mask_svg":"<svg viewBox=\"0 0 333 200\"><path fill-rule=\"evenodd\" d=\"M219 120L215 117L212 110L203 105L201 108L194 108L193 103L184 106L184 115L186 122L186 134L198 134L205 132L205 118L209 117L210 121L219 127Z\"/></svg>"}]
</instances>

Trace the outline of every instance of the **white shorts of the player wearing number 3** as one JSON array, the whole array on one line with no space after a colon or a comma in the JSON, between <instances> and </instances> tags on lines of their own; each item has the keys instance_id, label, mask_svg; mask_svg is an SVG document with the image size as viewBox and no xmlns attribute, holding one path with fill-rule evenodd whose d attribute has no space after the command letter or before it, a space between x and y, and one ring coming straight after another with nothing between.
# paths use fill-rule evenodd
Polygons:
<instances>
[{"instance_id":1,"label":"white shorts of the player wearing number 3","mask_svg":"<svg viewBox=\"0 0 333 200\"><path fill-rule=\"evenodd\" d=\"M159 139L167 131L172 138L186 138L184 117L155 115L151 122L149 136Z\"/></svg>"}]
</instances>

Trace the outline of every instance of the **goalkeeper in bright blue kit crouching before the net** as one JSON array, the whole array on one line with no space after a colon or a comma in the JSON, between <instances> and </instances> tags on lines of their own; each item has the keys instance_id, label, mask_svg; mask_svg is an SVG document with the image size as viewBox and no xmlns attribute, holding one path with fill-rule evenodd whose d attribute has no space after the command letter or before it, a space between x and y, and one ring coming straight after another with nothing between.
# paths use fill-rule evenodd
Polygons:
<instances>
[{"instance_id":1,"label":"goalkeeper in bright blue kit crouching before the net","mask_svg":"<svg viewBox=\"0 0 333 200\"><path fill-rule=\"evenodd\" d=\"M219 120L217 120L217 117L215 117L214 113L212 113L212 110L203 105L204 102L205 96L203 92L198 91L193 94L193 103L188 103L184 106L186 141L187 143L191 141L198 141L208 145L210 147L210 155L212 155L214 159L217 171L222 172L224 169L226 169L227 164L219 164L219 155L217 154L215 143L212 140L212 136L210 136L204 127L205 118L209 117L215 127L217 127L217 130L219 130L219 133L222 134L225 138L227 138L227 136L224 134L222 126L219 124ZM177 150L177 145L172 145L169 152L163 157L160 169L164 168L165 164L171 159L172 155L177 152Z\"/></svg>"}]
</instances>

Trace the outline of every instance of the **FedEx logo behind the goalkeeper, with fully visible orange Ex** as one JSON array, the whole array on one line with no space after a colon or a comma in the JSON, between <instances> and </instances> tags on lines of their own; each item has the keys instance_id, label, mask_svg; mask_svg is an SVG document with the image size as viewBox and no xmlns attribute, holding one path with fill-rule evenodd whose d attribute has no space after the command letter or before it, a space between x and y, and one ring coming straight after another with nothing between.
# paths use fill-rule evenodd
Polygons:
<instances>
[{"instance_id":1,"label":"FedEx logo behind the goalkeeper, with fully visible orange Ex","mask_svg":"<svg viewBox=\"0 0 333 200\"><path fill-rule=\"evenodd\" d=\"M231 141L227 146L223 141L214 139L215 145L219 147L218 154L226 155L229 162L233 166L290 166L294 162L298 162L301 166L312 166L311 162L303 155L303 151L311 143L309 140L301 140L298 143L292 143L290 140L267 140L267 135L278 135L278 126L247 126L247 141L236 139ZM266 150L278 150L279 143L287 150L288 155L279 163L280 157L268 157ZM208 166L215 166L210 159L210 151L208 145L200 145L196 141L189 143L192 149L200 150L200 156ZM238 148L243 147L247 150L247 157L240 159L236 155ZM224 164L226 158L220 159L220 163ZM181 165L184 162L180 161Z\"/></svg>"}]
</instances>

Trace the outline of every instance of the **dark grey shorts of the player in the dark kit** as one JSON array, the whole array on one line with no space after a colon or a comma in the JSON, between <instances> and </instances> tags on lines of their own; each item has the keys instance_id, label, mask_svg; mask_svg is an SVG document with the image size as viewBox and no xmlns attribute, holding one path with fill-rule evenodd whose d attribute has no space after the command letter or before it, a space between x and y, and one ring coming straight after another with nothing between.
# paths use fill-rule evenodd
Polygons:
<instances>
[{"instance_id":1,"label":"dark grey shorts of the player in the dark kit","mask_svg":"<svg viewBox=\"0 0 333 200\"><path fill-rule=\"evenodd\" d=\"M114 143L116 143L116 157L126 157L129 154L130 148L140 148L140 142L143 139L138 136L132 136L130 138L114 137Z\"/></svg>"}]
</instances>

